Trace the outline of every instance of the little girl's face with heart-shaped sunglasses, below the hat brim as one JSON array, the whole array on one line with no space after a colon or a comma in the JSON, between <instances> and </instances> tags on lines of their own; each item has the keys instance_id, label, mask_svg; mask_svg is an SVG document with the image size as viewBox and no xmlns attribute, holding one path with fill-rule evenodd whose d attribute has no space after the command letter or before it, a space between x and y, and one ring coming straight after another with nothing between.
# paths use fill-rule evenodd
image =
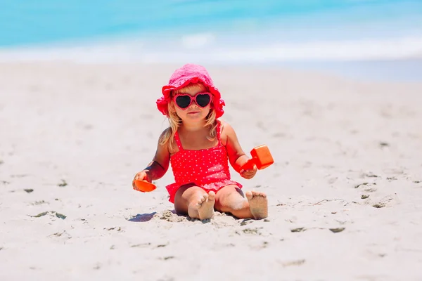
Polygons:
<instances>
[{"instance_id":1,"label":"little girl's face with heart-shaped sunglasses, below the hat brim","mask_svg":"<svg viewBox=\"0 0 422 281\"><path fill-rule=\"evenodd\" d=\"M191 96L192 98L196 96L196 98L191 99L191 104L188 105L188 107L182 109L181 107L177 106L175 103L175 100L173 98L173 106L174 110L176 111L177 115L181 118L182 122L200 122L205 120L208 113L210 113L210 104L212 96L209 95L210 102L205 106L201 107L197 104L198 103L206 103L207 102L207 94L206 89L202 85L198 87L188 87L187 89L184 89L183 93L175 94L174 96L177 97L178 95L186 95L184 98L184 101L188 100L188 96ZM200 95L196 95L197 93L200 93ZM201 94L204 93L204 94ZM187 96L188 95L188 96Z\"/></svg>"}]
</instances>

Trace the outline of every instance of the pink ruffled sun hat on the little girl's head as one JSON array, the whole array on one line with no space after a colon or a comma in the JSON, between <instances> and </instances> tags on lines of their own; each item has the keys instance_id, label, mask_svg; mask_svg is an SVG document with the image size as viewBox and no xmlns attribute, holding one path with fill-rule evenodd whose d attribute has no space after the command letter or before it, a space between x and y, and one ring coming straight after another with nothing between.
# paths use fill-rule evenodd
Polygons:
<instances>
[{"instance_id":1,"label":"pink ruffled sun hat on the little girl's head","mask_svg":"<svg viewBox=\"0 0 422 281\"><path fill-rule=\"evenodd\" d=\"M222 100L222 95L215 88L214 83L205 67L201 65L187 64L177 69L170 77L169 84L162 87L162 96L157 100L157 107L160 112L169 117L168 104L171 100L171 93L174 90L181 89L188 84L203 84L212 94L212 106L215 110L216 118L224 114L223 106L226 105Z\"/></svg>"}]
</instances>

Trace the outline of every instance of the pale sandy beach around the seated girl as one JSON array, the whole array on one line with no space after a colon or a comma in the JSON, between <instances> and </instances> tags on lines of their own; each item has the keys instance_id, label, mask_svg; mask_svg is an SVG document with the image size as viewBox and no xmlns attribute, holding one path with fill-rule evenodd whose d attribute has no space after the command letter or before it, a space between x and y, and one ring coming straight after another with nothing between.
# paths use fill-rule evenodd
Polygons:
<instances>
[{"instance_id":1,"label":"pale sandy beach around the seated girl","mask_svg":"<svg viewBox=\"0 0 422 281\"><path fill-rule=\"evenodd\" d=\"M208 66L269 217L177 216L132 178L180 65L1 63L0 280L422 280L422 84Z\"/></svg>"}]
</instances>

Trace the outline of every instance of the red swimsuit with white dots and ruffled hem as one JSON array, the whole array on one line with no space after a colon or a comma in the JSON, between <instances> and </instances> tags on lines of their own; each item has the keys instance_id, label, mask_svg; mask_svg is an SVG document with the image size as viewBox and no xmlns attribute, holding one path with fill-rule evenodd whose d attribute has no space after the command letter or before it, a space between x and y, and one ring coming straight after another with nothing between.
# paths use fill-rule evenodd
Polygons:
<instances>
[{"instance_id":1,"label":"red swimsuit with white dots and ruffled hem","mask_svg":"<svg viewBox=\"0 0 422 281\"><path fill-rule=\"evenodd\" d=\"M174 135L179 151L170 157L174 181L176 181L166 186L170 194L170 202L174 203L177 190L188 183L193 183L206 192L210 192L210 190L217 192L226 185L237 185L242 188L240 183L230 180L229 159L226 148L220 141L220 126L221 123L218 122L218 144L214 148L184 150L179 133L176 132Z\"/></svg>"}]
</instances>

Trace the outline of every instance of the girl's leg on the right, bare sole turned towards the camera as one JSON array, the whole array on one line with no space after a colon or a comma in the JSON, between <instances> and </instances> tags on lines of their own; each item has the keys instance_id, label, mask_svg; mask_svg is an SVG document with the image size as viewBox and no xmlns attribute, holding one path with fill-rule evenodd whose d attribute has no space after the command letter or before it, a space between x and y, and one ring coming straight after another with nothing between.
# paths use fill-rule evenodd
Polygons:
<instances>
[{"instance_id":1,"label":"girl's leg on the right, bare sole turned towards the camera","mask_svg":"<svg viewBox=\"0 0 422 281\"><path fill-rule=\"evenodd\" d=\"M215 195L215 209L231 213L237 218L267 218L267 195L262 192L248 191L245 198L237 185L227 185Z\"/></svg>"}]
</instances>

